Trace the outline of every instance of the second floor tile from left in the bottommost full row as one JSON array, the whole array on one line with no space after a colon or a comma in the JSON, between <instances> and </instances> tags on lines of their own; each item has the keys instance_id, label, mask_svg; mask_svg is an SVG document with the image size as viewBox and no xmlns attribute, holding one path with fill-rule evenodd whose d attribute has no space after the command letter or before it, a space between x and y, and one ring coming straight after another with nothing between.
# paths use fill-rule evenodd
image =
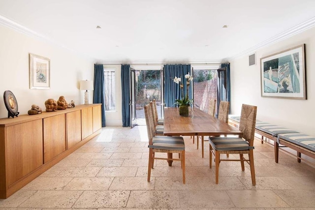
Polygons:
<instances>
[{"instance_id":1,"label":"second floor tile from left in the bottommost full row","mask_svg":"<svg viewBox=\"0 0 315 210\"><path fill-rule=\"evenodd\" d=\"M71 208L82 192L78 190L38 190L19 207Z\"/></svg>"}]
</instances>

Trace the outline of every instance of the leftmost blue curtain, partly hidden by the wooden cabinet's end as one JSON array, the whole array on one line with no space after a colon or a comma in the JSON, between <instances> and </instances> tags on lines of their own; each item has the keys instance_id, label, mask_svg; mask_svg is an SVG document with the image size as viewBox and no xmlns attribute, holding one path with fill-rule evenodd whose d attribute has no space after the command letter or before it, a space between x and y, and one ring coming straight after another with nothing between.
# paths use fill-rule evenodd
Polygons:
<instances>
[{"instance_id":1,"label":"leftmost blue curtain, partly hidden by the wooden cabinet's end","mask_svg":"<svg viewBox=\"0 0 315 210\"><path fill-rule=\"evenodd\" d=\"M102 104L102 127L106 126L105 120L105 90L104 90L104 67L103 64L94 64L94 96L93 103Z\"/></svg>"}]
</instances>

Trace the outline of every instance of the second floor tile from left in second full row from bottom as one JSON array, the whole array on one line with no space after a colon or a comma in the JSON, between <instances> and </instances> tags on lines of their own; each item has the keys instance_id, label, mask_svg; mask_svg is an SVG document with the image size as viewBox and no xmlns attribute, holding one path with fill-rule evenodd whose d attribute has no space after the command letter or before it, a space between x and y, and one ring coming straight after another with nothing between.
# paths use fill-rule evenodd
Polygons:
<instances>
[{"instance_id":1,"label":"second floor tile from left in second full row from bottom","mask_svg":"<svg viewBox=\"0 0 315 210\"><path fill-rule=\"evenodd\" d=\"M73 178L63 189L65 190L107 190L112 177L79 177Z\"/></svg>"}]
</instances>

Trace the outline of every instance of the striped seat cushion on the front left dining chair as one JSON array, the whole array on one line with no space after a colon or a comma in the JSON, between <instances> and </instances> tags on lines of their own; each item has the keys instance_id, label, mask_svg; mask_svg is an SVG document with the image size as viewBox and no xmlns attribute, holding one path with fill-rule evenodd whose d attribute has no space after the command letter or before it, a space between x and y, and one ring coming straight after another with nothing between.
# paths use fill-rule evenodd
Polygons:
<instances>
[{"instance_id":1,"label":"striped seat cushion on the front left dining chair","mask_svg":"<svg viewBox=\"0 0 315 210\"><path fill-rule=\"evenodd\" d=\"M185 143L181 136L154 136L152 145L148 147L160 150L185 150Z\"/></svg>"}]
</instances>

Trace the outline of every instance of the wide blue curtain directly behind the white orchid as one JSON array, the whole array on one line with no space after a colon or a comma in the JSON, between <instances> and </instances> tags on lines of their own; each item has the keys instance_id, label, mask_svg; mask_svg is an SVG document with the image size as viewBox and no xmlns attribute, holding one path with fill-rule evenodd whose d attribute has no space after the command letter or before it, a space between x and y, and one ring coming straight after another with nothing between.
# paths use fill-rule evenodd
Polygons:
<instances>
[{"instance_id":1,"label":"wide blue curtain directly behind the white orchid","mask_svg":"<svg viewBox=\"0 0 315 210\"><path fill-rule=\"evenodd\" d=\"M175 99L182 98L181 89L178 84L174 82L175 77L182 78L184 85L184 94L187 92L186 74L190 74L190 64L170 64L164 65L164 100L165 107L175 107ZM192 84L189 86L189 98L192 98Z\"/></svg>"}]
</instances>

